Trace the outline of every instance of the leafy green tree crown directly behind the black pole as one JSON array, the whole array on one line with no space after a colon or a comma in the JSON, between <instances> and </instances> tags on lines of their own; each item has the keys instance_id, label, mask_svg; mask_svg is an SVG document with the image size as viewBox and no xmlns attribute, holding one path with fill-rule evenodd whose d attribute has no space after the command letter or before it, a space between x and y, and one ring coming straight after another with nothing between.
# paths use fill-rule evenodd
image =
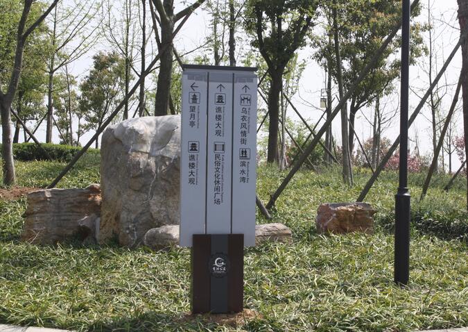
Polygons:
<instances>
[{"instance_id":1,"label":"leafy green tree crown directly behind the black pole","mask_svg":"<svg viewBox=\"0 0 468 332\"><path fill-rule=\"evenodd\" d=\"M354 83L361 69L367 65L389 31L395 26L401 16L400 0L337 0L338 11L338 35L340 38L340 55L343 65L343 85L345 91ZM325 33L333 33L331 24L331 12L333 9L331 1L324 1L322 15L329 22ZM413 10L413 15L419 15L420 8ZM424 26L413 23L411 35L412 61L426 51L422 40L421 31ZM324 67L331 71L336 80L336 56L333 45L326 38L315 38L315 47L318 47L315 58ZM399 77L400 59L397 55L401 40L395 38L389 45L379 62L368 74L363 82L355 90L349 105L349 147L352 151L354 145L354 119L361 108L370 105L377 96L383 96L393 90L392 83ZM328 68L327 60L331 60L333 66Z\"/></svg>"}]
</instances>

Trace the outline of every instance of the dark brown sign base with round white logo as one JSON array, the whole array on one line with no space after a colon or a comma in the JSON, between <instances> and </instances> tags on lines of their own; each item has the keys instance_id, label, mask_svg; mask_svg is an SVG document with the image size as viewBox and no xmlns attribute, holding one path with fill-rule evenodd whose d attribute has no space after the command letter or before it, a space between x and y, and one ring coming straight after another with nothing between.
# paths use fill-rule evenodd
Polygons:
<instances>
[{"instance_id":1,"label":"dark brown sign base with round white logo","mask_svg":"<svg viewBox=\"0 0 468 332\"><path fill-rule=\"evenodd\" d=\"M243 234L193 235L192 313L243 310L243 242Z\"/></svg>"}]
</instances>

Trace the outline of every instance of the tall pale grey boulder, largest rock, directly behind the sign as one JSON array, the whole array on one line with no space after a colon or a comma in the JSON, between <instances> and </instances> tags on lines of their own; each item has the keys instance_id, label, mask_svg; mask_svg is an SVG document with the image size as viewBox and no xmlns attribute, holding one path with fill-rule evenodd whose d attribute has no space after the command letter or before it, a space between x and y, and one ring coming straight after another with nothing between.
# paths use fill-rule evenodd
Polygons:
<instances>
[{"instance_id":1,"label":"tall pale grey boulder, largest rock, directly behind the sign","mask_svg":"<svg viewBox=\"0 0 468 332\"><path fill-rule=\"evenodd\" d=\"M150 229L179 224L180 116L139 117L108 127L101 144L98 241L135 247Z\"/></svg>"}]
</instances>

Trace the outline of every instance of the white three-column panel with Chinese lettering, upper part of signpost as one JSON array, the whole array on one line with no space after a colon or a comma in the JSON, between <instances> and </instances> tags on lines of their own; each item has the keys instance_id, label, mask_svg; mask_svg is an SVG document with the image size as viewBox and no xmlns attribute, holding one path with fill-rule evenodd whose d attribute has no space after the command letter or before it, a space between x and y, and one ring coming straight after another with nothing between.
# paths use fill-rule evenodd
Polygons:
<instances>
[{"instance_id":1,"label":"white three-column panel with Chinese lettering, upper part of signpost","mask_svg":"<svg viewBox=\"0 0 468 332\"><path fill-rule=\"evenodd\" d=\"M184 66L180 245L193 234L255 244L257 76L254 68Z\"/></svg>"}]
</instances>

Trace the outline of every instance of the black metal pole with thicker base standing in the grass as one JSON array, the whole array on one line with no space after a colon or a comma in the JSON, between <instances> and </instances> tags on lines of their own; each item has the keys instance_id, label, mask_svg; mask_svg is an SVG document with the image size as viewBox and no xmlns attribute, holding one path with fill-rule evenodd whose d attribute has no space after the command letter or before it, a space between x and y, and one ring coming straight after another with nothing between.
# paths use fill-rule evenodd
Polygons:
<instances>
[{"instance_id":1,"label":"black metal pole with thicker base standing in the grass","mask_svg":"<svg viewBox=\"0 0 468 332\"><path fill-rule=\"evenodd\" d=\"M408 92L410 72L410 0L402 0L399 187L395 195L395 283L410 277L410 192L408 190Z\"/></svg>"}]
</instances>

